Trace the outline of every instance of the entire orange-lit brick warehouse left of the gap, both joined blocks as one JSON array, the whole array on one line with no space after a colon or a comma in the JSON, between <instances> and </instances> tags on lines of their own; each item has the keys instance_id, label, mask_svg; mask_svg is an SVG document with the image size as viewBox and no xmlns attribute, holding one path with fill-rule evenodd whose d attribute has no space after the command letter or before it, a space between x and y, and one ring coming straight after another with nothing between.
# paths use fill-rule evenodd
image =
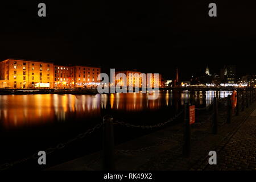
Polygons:
<instances>
[{"instance_id":1,"label":"entire orange-lit brick warehouse left of the gap, both joined blocks","mask_svg":"<svg viewBox=\"0 0 256 182\"><path fill-rule=\"evenodd\" d=\"M51 62L7 59L0 62L0 88L76 88L94 86L101 69Z\"/></svg>"}]
</instances>

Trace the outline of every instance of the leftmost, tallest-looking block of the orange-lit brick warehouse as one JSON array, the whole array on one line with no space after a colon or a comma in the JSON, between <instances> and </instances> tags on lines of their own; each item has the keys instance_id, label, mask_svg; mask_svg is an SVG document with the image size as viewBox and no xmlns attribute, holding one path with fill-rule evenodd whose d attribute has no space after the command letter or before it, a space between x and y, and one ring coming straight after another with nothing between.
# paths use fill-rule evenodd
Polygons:
<instances>
[{"instance_id":1,"label":"leftmost, tallest-looking block of the orange-lit brick warehouse","mask_svg":"<svg viewBox=\"0 0 256 182\"><path fill-rule=\"evenodd\" d=\"M0 62L0 88L53 88L53 63L6 59Z\"/></svg>"}]
</instances>

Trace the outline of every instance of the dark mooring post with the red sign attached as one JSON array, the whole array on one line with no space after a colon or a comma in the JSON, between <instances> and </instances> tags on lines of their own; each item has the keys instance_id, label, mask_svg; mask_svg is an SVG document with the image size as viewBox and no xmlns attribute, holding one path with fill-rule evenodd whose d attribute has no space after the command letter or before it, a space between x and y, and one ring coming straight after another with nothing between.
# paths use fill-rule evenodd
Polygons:
<instances>
[{"instance_id":1,"label":"dark mooring post with the red sign attached","mask_svg":"<svg viewBox=\"0 0 256 182\"><path fill-rule=\"evenodd\" d=\"M189 124L188 117L188 106L189 104L184 104L184 144L183 144L183 155L188 158L191 154L191 126Z\"/></svg>"}]
</instances>

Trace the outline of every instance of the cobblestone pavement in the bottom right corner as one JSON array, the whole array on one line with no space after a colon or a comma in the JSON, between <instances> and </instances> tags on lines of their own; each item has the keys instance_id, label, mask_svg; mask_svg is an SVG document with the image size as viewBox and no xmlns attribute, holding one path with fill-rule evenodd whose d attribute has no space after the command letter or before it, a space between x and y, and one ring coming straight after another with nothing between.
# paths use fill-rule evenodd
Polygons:
<instances>
[{"instance_id":1,"label":"cobblestone pavement in the bottom right corner","mask_svg":"<svg viewBox=\"0 0 256 182\"><path fill-rule=\"evenodd\" d=\"M256 170L256 116L251 115L217 153L206 170Z\"/></svg>"}]
</instances>

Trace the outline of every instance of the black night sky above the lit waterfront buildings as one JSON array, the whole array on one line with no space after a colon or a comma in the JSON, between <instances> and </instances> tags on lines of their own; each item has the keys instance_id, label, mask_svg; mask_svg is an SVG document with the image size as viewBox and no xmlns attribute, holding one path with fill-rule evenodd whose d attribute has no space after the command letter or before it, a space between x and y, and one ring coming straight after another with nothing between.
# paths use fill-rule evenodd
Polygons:
<instances>
[{"instance_id":1,"label":"black night sky above the lit waterfront buildings","mask_svg":"<svg viewBox=\"0 0 256 182\"><path fill-rule=\"evenodd\" d=\"M38 3L47 17L38 17ZM210 2L217 17L208 16ZM172 78L236 64L255 73L255 1L6 1L0 59L138 69Z\"/></svg>"}]
</instances>

